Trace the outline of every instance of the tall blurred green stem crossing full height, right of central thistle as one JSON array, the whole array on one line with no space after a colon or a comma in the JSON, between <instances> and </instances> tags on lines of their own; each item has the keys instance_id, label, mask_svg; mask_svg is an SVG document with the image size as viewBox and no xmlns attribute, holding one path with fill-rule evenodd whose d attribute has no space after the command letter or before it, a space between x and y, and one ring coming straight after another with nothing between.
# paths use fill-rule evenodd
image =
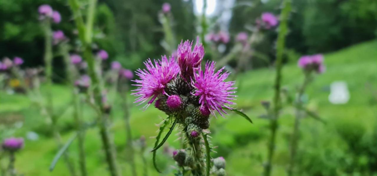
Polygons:
<instances>
[{"instance_id":1,"label":"tall blurred green stem crossing full height, right of central thistle","mask_svg":"<svg viewBox=\"0 0 377 176\"><path fill-rule=\"evenodd\" d=\"M279 118L279 111L281 108L281 100L280 100L280 88L281 88L281 79L282 79L282 60L283 60L283 53L284 53L284 45L285 45L285 36L288 32L288 15L290 13L291 8L291 0L284 0L283 1L283 9L280 14L280 25L279 25L279 33L277 36L277 54L276 54L276 76L275 76L275 83L274 83L274 99L273 99L273 113L270 120L270 130L271 130L271 137L268 143L268 154L267 154L267 163L264 168L264 176L271 175L272 169L272 159L274 156L275 151L275 142L276 142L276 133L278 128L278 118Z\"/></svg>"}]
</instances>

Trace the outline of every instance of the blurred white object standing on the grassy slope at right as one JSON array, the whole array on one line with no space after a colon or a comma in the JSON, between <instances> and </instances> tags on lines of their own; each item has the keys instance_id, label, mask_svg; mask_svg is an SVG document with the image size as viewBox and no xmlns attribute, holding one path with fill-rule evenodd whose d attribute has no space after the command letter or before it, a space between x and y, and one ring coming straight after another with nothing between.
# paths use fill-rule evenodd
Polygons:
<instances>
[{"instance_id":1,"label":"blurred white object standing on the grassy slope at right","mask_svg":"<svg viewBox=\"0 0 377 176\"><path fill-rule=\"evenodd\" d=\"M345 104L349 100L347 83L336 81L330 85L329 102L333 104Z\"/></svg>"}]
</instances>

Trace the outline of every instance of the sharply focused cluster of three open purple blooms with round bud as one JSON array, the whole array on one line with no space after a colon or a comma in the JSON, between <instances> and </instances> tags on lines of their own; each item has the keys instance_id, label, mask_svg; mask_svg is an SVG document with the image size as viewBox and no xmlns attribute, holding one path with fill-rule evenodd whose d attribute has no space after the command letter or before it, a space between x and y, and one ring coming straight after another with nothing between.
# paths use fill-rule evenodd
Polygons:
<instances>
[{"instance_id":1,"label":"sharply focused cluster of three open purple blooms with round bud","mask_svg":"<svg viewBox=\"0 0 377 176\"><path fill-rule=\"evenodd\" d=\"M178 63L174 57L168 60L166 56L155 60L154 65L147 60L147 69L138 69L136 75L140 79L133 80L138 86L132 93L138 96L135 102L148 101L149 106L158 98L155 107L166 113L193 105L202 115L218 111L223 116L223 108L231 109L227 104L234 104L234 81L225 82L229 73L222 73L224 68L216 71L215 62L207 62L202 71L203 57L202 44L197 42L192 50L192 42L187 40L178 46Z\"/></svg>"}]
</instances>

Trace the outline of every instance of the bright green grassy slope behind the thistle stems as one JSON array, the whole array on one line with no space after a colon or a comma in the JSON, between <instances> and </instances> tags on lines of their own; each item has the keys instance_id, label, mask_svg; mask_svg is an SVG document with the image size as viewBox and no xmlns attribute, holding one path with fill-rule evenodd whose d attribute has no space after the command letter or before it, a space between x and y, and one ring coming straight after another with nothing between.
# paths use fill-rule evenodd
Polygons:
<instances>
[{"instance_id":1,"label":"bright green grassy slope behind the thistle stems","mask_svg":"<svg viewBox=\"0 0 377 176\"><path fill-rule=\"evenodd\" d=\"M326 72L316 76L316 79L307 89L307 96L310 99L308 107L316 111L326 120L326 125L314 119L306 118L302 120L302 140L300 147L308 156L314 159L308 160L321 161L325 163L323 167L335 167L331 160L336 156L321 153L323 150L334 148L339 150L339 154L344 154L349 149L345 140L339 135L339 130L360 127L365 130L366 134L373 132L376 122L376 102L377 97L373 96L373 91L377 91L377 41L365 42L349 48L342 49L338 52L325 54ZM273 69L259 69L242 74L238 77L239 91L237 93L236 107L243 109L251 117L254 124L251 125L244 118L230 113L225 119L211 119L211 136L212 143L219 147L218 153L212 153L213 156L225 156L227 160L227 173L229 175L260 175L263 170L263 162L267 154L267 137L269 136L268 122L259 119L258 116L264 113L260 102L270 100L273 95L272 83L274 79ZM283 69L283 85L291 92L303 80L303 75L296 63L287 64ZM329 85L336 81L342 80L347 82L351 94L351 99L344 105L333 105L328 102ZM59 119L60 128L63 133L63 139L66 141L72 136L72 117L70 116L72 108L67 108L67 102L70 100L69 89L64 86L54 86L54 105L61 110L62 116ZM130 168L126 160L128 153L124 149L126 144L126 135L122 111L119 106L119 100L116 100L116 106L113 113L112 133L116 148L118 150L118 160L123 175L130 175ZM154 139L150 137L156 135L158 127L155 124L161 122L161 117L166 117L153 107L146 111L139 110L141 107L132 107L131 125L133 139L138 139L141 135L146 136L148 150L152 149ZM276 155L274 157L273 175L284 175L287 167L288 154L288 137L293 126L293 108L285 105L282 110L282 116L279 119L280 127L277 137ZM84 108L86 120L94 118L94 113L90 107ZM22 95L0 94L0 120L6 118L23 119L23 127L16 130L15 135L23 136L27 131L33 130L40 133L40 140L26 141L25 148L17 153L16 168L19 173L25 175L54 175L66 176L67 170L64 162L59 161L55 170L48 171L49 164L52 161L57 148L54 140L49 137L46 119L41 116L37 108L30 104L27 97ZM349 130L351 131L351 130ZM100 137L98 130L92 128L86 132L86 153L87 169L90 176L106 175L106 164L104 163L104 153L101 150ZM167 144L170 147L178 147L178 142L174 142L177 137L170 136ZM69 150L74 161L77 158L77 143L73 143ZM318 156L318 151L321 151ZM324 151L325 152L325 151ZM139 151L136 151L136 164L138 174L142 175L142 162L139 157ZM337 153L332 153L336 155ZM152 154L145 153L148 161L149 175L158 175L153 169ZM310 158L310 157L308 157ZM170 165L173 165L169 156L158 151L158 162L160 168L165 169L165 175L172 175ZM334 162L337 162L334 160ZM3 161L5 164L6 162ZM305 164L305 161L303 161ZM310 163L309 163L310 164ZM314 173L315 168L309 168L307 171ZM322 175L326 175L323 170ZM342 171L339 171L342 174ZM303 173L305 175L305 172Z\"/></svg>"}]
</instances>

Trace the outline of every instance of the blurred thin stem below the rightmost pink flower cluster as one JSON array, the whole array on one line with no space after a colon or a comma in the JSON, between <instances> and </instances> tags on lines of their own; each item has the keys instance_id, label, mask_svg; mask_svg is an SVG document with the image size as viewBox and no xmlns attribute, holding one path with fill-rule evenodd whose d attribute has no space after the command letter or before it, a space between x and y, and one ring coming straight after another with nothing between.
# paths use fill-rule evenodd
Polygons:
<instances>
[{"instance_id":1,"label":"blurred thin stem below the rightmost pink flower cluster","mask_svg":"<svg viewBox=\"0 0 377 176\"><path fill-rule=\"evenodd\" d=\"M302 96L305 91L305 88L307 87L308 83L310 82L310 73L305 73L305 79L302 83L299 92L297 94L297 99L295 103L296 107L296 118L294 119L294 128L293 133L291 137L291 148L290 148L290 163L288 167L288 176L293 175L294 165L295 165L295 159L297 154L297 148L298 148L298 138L300 133L300 119L302 118Z\"/></svg>"}]
</instances>

